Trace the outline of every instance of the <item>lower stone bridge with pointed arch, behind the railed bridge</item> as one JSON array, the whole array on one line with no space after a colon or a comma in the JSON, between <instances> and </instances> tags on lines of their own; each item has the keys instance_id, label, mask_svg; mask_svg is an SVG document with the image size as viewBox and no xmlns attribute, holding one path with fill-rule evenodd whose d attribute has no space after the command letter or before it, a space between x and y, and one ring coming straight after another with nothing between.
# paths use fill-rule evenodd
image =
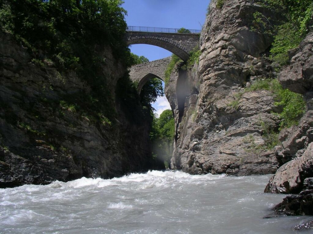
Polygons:
<instances>
[{"instance_id":1,"label":"lower stone bridge with pointed arch, behind the railed bridge","mask_svg":"<svg viewBox=\"0 0 313 234\"><path fill-rule=\"evenodd\" d=\"M159 59L151 62L141 63L131 67L129 75L132 81L138 82L138 93L142 87L153 77L165 81L165 70L171 61L171 57Z\"/></svg>"}]
</instances>

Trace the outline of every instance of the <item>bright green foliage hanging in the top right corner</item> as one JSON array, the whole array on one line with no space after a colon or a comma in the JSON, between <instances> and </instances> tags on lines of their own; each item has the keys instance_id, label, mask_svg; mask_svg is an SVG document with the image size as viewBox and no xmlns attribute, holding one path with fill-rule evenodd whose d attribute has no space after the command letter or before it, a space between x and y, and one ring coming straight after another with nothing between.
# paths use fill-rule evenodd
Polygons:
<instances>
[{"instance_id":1,"label":"bright green foliage hanging in the top right corner","mask_svg":"<svg viewBox=\"0 0 313 234\"><path fill-rule=\"evenodd\" d=\"M270 58L280 65L288 63L288 51L297 47L308 32L313 17L311 0L260 0L260 4L280 14L282 20L274 21L261 12L254 13L254 27L274 37Z\"/></svg>"}]
</instances>

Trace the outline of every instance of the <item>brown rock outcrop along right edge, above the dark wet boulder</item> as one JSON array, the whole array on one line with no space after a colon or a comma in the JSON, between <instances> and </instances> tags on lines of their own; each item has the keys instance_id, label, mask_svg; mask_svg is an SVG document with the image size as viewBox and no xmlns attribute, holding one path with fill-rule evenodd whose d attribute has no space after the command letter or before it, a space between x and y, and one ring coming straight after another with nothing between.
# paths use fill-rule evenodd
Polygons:
<instances>
[{"instance_id":1,"label":"brown rock outcrop along right edge, above the dark wet boulder","mask_svg":"<svg viewBox=\"0 0 313 234\"><path fill-rule=\"evenodd\" d=\"M280 133L279 138L282 144L276 147L275 154L277 159L285 164L270 180L265 189L266 192L297 193L304 179L313 176L312 48L313 32L310 32L299 48L291 51L291 56L293 56L290 65L279 74L279 81L285 88L304 95L307 110L298 126L285 129ZM311 167L310 170L305 169L308 167Z\"/></svg>"}]
</instances>

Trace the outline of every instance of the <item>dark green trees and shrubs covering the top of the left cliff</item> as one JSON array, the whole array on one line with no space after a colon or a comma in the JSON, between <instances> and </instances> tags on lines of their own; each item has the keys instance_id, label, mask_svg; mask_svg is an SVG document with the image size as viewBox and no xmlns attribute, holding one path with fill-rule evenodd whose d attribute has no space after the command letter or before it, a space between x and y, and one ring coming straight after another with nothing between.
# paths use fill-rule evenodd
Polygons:
<instances>
[{"instance_id":1,"label":"dark green trees and shrubs covering the top of the left cliff","mask_svg":"<svg viewBox=\"0 0 313 234\"><path fill-rule=\"evenodd\" d=\"M27 48L34 64L54 66L56 78L62 84L66 83L68 73L74 71L90 86L90 93L66 95L62 98L64 103L57 106L110 125L116 119L115 94L108 87L110 77L105 77L103 72L104 48L110 47L122 65L133 64L124 38L126 11L121 8L122 3L121 0L25 0L21 4L19 0L0 0L0 28L13 34ZM138 96L129 78L122 77L118 87L123 87L116 92L122 105L134 109ZM127 95L131 98L126 99Z\"/></svg>"}]
</instances>

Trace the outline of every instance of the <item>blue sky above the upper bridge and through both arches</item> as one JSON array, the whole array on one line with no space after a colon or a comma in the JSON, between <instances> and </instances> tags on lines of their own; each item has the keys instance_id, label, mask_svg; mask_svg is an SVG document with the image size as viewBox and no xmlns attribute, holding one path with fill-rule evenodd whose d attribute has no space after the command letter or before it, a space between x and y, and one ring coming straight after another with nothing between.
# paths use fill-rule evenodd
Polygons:
<instances>
[{"instance_id":1,"label":"blue sky above the upper bridge and through both arches","mask_svg":"<svg viewBox=\"0 0 313 234\"><path fill-rule=\"evenodd\" d=\"M209 0L124 0L128 26L201 29ZM171 52L157 46L132 45L131 52L143 55L149 61L171 56ZM153 107L157 114L171 109L165 97L160 97Z\"/></svg>"}]
</instances>

